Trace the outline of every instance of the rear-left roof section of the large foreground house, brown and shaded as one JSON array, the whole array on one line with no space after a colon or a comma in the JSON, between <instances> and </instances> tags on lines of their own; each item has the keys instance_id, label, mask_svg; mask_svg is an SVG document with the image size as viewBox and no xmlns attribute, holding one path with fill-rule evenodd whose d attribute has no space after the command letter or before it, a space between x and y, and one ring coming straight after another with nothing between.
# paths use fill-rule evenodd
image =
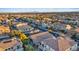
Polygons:
<instances>
[{"instance_id":1,"label":"rear-left roof section of the large foreground house, brown and shaded","mask_svg":"<svg viewBox=\"0 0 79 59\"><path fill-rule=\"evenodd\" d=\"M49 38L56 39L52 34L50 34L48 32L42 32L42 33L38 33L38 34L31 35L30 38L33 41L37 41L37 42L41 42L41 41L47 40Z\"/></svg>"}]
</instances>

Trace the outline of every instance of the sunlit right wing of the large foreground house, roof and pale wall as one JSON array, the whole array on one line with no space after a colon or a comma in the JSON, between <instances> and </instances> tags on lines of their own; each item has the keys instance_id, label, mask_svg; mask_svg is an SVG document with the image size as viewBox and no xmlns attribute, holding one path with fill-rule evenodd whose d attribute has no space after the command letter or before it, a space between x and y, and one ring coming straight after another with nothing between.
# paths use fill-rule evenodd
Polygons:
<instances>
[{"instance_id":1,"label":"sunlit right wing of the large foreground house, roof and pale wall","mask_svg":"<svg viewBox=\"0 0 79 59\"><path fill-rule=\"evenodd\" d=\"M77 43L69 37L58 37L59 51L76 51Z\"/></svg>"}]
</instances>

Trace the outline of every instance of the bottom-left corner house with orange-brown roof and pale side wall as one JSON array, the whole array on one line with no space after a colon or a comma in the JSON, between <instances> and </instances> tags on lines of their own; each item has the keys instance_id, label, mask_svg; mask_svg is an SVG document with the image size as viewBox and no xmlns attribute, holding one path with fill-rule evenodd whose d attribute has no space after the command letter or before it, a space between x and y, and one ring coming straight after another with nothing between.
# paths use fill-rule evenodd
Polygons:
<instances>
[{"instance_id":1,"label":"bottom-left corner house with orange-brown roof and pale side wall","mask_svg":"<svg viewBox=\"0 0 79 59\"><path fill-rule=\"evenodd\" d=\"M22 42L18 38L9 38L0 41L0 51L22 51Z\"/></svg>"}]
</instances>

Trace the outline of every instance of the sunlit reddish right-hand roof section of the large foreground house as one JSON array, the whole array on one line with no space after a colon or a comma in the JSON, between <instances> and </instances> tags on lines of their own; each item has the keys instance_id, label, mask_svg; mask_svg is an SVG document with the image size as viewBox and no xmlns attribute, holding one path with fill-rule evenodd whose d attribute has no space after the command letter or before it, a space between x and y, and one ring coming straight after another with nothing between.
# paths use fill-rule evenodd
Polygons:
<instances>
[{"instance_id":1,"label":"sunlit reddish right-hand roof section of the large foreground house","mask_svg":"<svg viewBox=\"0 0 79 59\"><path fill-rule=\"evenodd\" d=\"M72 47L74 44L76 44L76 42L74 42L71 39L67 39L67 38L63 38L63 37L58 38L59 51L64 51L64 50Z\"/></svg>"}]
</instances>

